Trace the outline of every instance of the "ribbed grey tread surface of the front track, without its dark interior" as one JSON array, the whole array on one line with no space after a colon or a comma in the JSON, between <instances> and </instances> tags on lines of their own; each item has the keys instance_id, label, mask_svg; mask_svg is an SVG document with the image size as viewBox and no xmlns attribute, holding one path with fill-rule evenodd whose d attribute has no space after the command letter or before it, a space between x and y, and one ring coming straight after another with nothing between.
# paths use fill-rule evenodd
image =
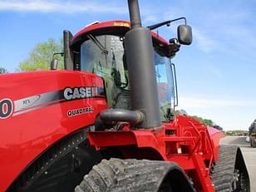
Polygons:
<instances>
[{"instance_id":1,"label":"ribbed grey tread surface of the front track, without its dark interior","mask_svg":"<svg viewBox=\"0 0 256 192\"><path fill-rule=\"evenodd\" d=\"M75 191L157 191L172 166L177 167L174 163L156 160L101 160Z\"/></svg>"}]
</instances>

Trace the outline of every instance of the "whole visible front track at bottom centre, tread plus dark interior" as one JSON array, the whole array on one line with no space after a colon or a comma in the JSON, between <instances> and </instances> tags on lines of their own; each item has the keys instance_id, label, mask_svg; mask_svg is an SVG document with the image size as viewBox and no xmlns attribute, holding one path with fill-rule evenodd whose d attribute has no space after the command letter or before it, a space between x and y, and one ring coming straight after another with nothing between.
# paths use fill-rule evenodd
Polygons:
<instances>
[{"instance_id":1,"label":"whole visible front track at bottom centre, tread plus dark interior","mask_svg":"<svg viewBox=\"0 0 256 192\"><path fill-rule=\"evenodd\" d=\"M184 171L158 160L101 160L85 175L76 192L192 192Z\"/></svg>"}]
</instances>

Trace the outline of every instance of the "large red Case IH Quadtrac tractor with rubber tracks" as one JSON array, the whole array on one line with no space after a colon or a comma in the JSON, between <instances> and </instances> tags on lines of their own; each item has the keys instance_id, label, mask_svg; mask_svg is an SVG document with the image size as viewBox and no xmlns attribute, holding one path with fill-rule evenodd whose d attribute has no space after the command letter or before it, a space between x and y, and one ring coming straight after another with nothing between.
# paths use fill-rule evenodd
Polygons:
<instances>
[{"instance_id":1,"label":"large red Case IH Quadtrac tractor with rubber tracks","mask_svg":"<svg viewBox=\"0 0 256 192\"><path fill-rule=\"evenodd\" d=\"M175 66L191 28L165 41L130 22L64 31L65 70L0 76L0 191L249 191L219 130L175 116ZM184 19L184 17L179 18Z\"/></svg>"}]
</instances>

